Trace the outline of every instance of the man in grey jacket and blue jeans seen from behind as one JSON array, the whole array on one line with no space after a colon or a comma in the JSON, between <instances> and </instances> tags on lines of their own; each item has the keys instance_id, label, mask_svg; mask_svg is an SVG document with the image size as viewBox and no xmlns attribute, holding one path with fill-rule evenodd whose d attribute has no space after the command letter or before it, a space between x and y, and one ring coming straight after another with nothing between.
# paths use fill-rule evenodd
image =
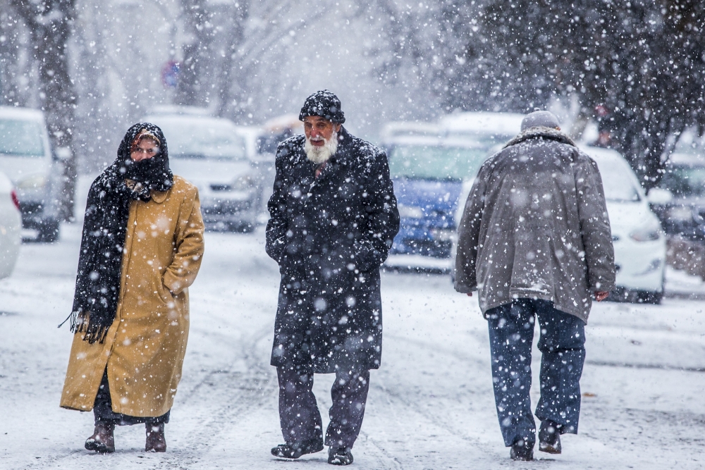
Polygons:
<instances>
[{"instance_id":1,"label":"man in grey jacket and blue jeans seen from behind","mask_svg":"<svg viewBox=\"0 0 705 470\"><path fill-rule=\"evenodd\" d=\"M615 287L614 249L596 163L535 111L480 168L458 227L455 290L489 323L494 396L510 457L533 459L534 323L541 336L539 450L560 454L577 433L585 323Z\"/></svg>"}]
</instances>

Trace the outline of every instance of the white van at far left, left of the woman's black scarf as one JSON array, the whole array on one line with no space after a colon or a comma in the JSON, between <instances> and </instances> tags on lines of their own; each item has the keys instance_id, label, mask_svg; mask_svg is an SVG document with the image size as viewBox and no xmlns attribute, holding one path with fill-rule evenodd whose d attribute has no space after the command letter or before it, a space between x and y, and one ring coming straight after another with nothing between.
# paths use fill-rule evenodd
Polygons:
<instances>
[{"instance_id":1,"label":"white van at far left, left of the woman's black scarf","mask_svg":"<svg viewBox=\"0 0 705 470\"><path fill-rule=\"evenodd\" d=\"M51 152L42 111L0 106L0 171L16 187L23 228L37 230L39 241L56 241L63 167Z\"/></svg>"}]
</instances>

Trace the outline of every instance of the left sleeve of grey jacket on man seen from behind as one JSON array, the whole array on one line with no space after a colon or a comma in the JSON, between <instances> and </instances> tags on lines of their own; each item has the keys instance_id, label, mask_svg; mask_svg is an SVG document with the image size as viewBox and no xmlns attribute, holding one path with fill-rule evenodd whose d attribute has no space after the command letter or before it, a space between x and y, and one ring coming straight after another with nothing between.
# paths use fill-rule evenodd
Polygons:
<instances>
[{"instance_id":1,"label":"left sleeve of grey jacket on man seen from behind","mask_svg":"<svg viewBox=\"0 0 705 470\"><path fill-rule=\"evenodd\" d=\"M458 225L458 249L455 254L455 283L453 287L458 292L467 294L477 289L477 249L479 245L480 223L484 210L484 199L488 171L486 164L472 183L472 189L467 196L465 209L462 211Z\"/></svg>"}]
</instances>

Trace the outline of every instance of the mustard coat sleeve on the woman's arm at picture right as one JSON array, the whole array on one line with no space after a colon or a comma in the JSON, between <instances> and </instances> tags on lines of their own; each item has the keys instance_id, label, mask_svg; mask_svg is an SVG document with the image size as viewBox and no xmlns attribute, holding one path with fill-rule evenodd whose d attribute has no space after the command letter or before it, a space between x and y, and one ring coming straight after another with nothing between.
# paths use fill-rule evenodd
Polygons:
<instances>
[{"instance_id":1,"label":"mustard coat sleeve on the woman's arm at picture right","mask_svg":"<svg viewBox=\"0 0 705 470\"><path fill-rule=\"evenodd\" d=\"M164 273L164 285L176 295L196 279L203 257L203 218L195 187L180 206L174 242L176 254Z\"/></svg>"}]
</instances>

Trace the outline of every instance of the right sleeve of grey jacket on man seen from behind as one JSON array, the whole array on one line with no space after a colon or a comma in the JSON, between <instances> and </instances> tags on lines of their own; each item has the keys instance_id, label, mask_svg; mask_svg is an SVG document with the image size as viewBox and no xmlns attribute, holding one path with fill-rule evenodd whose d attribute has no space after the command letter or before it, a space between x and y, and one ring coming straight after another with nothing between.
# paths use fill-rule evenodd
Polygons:
<instances>
[{"instance_id":1,"label":"right sleeve of grey jacket on man seen from behind","mask_svg":"<svg viewBox=\"0 0 705 470\"><path fill-rule=\"evenodd\" d=\"M575 167L575 187L587 283L590 290L610 291L615 287L615 253L602 178L597 163L581 156Z\"/></svg>"}]
</instances>

